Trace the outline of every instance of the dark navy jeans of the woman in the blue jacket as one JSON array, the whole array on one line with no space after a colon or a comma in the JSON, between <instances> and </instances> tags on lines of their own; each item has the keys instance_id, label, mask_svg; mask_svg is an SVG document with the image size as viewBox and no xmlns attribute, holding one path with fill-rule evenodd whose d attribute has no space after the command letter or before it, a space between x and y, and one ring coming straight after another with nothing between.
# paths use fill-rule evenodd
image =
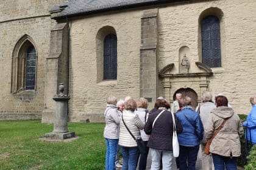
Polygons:
<instances>
[{"instance_id":1,"label":"dark navy jeans of the woman in the blue jacket","mask_svg":"<svg viewBox=\"0 0 256 170\"><path fill-rule=\"evenodd\" d=\"M196 159L199 151L197 146L182 146L180 145L179 165L180 170L196 169Z\"/></svg>"}]
</instances>

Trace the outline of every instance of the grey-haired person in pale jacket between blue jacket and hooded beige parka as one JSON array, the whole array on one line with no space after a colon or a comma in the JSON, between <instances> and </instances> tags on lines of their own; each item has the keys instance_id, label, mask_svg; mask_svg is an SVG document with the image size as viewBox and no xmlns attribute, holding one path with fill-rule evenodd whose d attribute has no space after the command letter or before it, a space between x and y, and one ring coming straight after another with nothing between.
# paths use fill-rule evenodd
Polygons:
<instances>
[{"instance_id":1,"label":"grey-haired person in pale jacket between blue jacket and hooded beige parka","mask_svg":"<svg viewBox=\"0 0 256 170\"><path fill-rule=\"evenodd\" d=\"M196 107L196 112L198 112L200 115L204 129L208 125L210 112L212 112L212 110L215 108L216 106L215 104L213 104L212 95L210 94L210 92L204 92L202 94L202 103ZM210 157L210 155L205 154L204 152L205 143L206 143L206 136L204 134L204 138L202 139L201 145L200 145L201 154L202 154L202 169L210 170L210 163L212 165L212 157ZM213 166L212 166L212 169L214 169Z\"/></svg>"}]
</instances>

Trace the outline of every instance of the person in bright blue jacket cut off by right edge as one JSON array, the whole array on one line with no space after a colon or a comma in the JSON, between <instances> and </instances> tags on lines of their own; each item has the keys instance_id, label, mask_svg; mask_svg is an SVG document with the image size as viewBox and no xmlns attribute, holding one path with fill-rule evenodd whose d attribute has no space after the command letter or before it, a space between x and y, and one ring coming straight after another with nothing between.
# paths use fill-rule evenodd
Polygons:
<instances>
[{"instance_id":1,"label":"person in bright blue jacket cut off by right edge","mask_svg":"<svg viewBox=\"0 0 256 170\"><path fill-rule=\"evenodd\" d=\"M243 122L243 126L247 127L246 138L252 144L256 144L256 97L251 97L252 110Z\"/></svg>"}]
</instances>

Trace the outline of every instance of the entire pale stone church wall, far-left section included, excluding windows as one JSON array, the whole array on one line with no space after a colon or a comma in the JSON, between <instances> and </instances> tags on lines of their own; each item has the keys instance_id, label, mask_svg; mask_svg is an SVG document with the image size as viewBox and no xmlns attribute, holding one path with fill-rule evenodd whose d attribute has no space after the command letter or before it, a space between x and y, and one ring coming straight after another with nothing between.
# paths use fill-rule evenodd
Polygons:
<instances>
[{"instance_id":1,"label":"entire pale stone church wall, far-left section included, excluding windows","mask_svg":"<svg viewBox=\"0 0 256 170\"><path fill-rule=\"evenodd\" d=\"M55 21L49 9L64 1L1 1L0 4L0 119L40 118L44 109L46 57L50 30ZM199 21L207 9L218 9L221 18L222 67L213 69L209 90L227 96L238 114L251 109L249 97L256 95L256 1L191 1L137 9L98 13L71 20L69 58L69 118L71 121L104 121L108 95L140 97L141 16L144 10L158 9L158 70L174 63L171 73L179 73L179 50L188 47L191 72L201 72L194 64L201 61ZM99 81L96 35L104 27L115 29L118 39L118 78ZM37 90L10 93L12 52L16 42L29 35L38 52ZM159 79L158 94L164 95ZM183 85L182 85L183 86ZM181 86L181 87L182 87ZM54 95L54 94L52 94ZM152 103L151 103L152 107Z\"/></svg>"}]
</instances>

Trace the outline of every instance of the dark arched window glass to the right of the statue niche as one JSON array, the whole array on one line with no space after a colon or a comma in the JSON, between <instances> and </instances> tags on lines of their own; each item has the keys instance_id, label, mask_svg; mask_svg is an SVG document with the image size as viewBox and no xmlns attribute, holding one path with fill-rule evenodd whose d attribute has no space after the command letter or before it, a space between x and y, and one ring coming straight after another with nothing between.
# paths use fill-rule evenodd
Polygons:
<instances>
[{"instance_id":1,"label":"dark arched window glass to the right of the statue niche","mask_svg":"<svg viewBox=\"0 0 256 170\"><path fill-rule=\"evenodd\" d=\"M221 38L219 19L209 15L202 20L202 63L209 67L221 67Z\"/></svg>"}]
</instances>

